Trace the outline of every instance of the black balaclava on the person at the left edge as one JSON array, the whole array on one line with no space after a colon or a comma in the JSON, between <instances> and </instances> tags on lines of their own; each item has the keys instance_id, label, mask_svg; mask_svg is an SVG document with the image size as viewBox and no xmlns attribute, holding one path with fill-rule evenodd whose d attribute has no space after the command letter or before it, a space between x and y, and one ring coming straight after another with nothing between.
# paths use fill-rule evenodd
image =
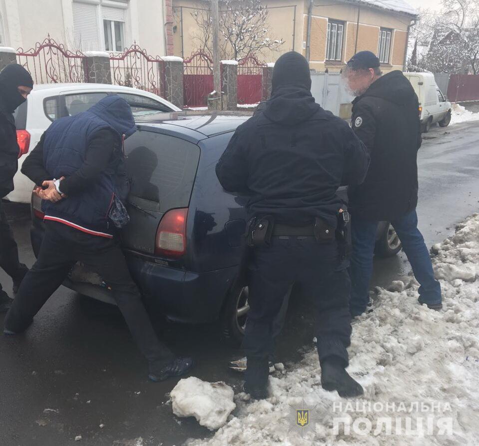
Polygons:
<instances>
[{"instance_id":1,"label":"black balaclava on the person at the left edge","mask_svg":"<svg viewBox=\"0 0 479 446\"><path fill-rule=\"evenodd\" d=\"M5 111L13 113L18 105L25 102L26 99L18 92L20 85L33 88L30 73L17 63L5 66L0 72L0 102Z\"/></svg>"}]
</instances>

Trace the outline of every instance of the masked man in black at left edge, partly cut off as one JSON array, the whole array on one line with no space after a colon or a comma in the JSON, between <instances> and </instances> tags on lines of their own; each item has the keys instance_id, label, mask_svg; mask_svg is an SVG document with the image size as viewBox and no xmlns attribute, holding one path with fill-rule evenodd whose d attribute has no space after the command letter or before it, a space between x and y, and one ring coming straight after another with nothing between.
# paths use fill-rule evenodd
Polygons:
<instances>
[{"instance_id":1,"label":"masked man in black at left edge, partly cut off","mask_svg":"<svg viewBox=\"0 0 479 446\"><path fill-rule=\"evenodd\" d=\"M0 200L13 190L13 175L18 169L16 128L13 112L22 104L31 89L30 73L20 65L12 63L0 72ZM18 261L18 248L0 201L0 266L13 281L13 293L28 271ZM11 299L0 285L0 313L10 308Z\"/></svg>"}]
</instances>

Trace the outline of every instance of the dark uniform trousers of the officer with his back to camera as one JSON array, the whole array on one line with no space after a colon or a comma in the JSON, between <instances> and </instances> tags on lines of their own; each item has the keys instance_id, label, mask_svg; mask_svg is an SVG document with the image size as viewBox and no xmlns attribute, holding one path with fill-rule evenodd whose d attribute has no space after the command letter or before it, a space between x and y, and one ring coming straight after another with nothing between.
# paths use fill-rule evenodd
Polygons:
<instances>
[{"instance_id":1,"label":"dark uniform trousers of the officer with his back to camera","mask_svg":"<svg viewBox=\"0 0 479 446\"><path fill-rule=\"evenodd\" d=\"M320 244L314 237L273 237L270 247L254 249L248 264L250 311L243 340L247 385L264 385L267 380L273 325L293 283L312 298L320 362L335 356L348 365L350 280L346 269L338 268L338 256L336 242ZM260 372L250 364L261 364Z\"/></svg>"}]
</instances>

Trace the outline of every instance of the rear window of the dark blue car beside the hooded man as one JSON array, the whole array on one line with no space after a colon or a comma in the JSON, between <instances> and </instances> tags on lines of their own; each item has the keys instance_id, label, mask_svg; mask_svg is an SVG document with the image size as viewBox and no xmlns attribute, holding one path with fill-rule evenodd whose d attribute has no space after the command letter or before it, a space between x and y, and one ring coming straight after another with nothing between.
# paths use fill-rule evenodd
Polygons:
<instances>
[{"instance_id":1,"label":"rear window of the dark blue car beside the hooded man","mask_svg":"<svg viewBox=\"0 0 479 446\"><path fill-rule=\"evenodd\" d=\"M174 136L138 130L125 141L130 202L166 212L188 207L200 149Z\"/></svg>"}]
</instances>

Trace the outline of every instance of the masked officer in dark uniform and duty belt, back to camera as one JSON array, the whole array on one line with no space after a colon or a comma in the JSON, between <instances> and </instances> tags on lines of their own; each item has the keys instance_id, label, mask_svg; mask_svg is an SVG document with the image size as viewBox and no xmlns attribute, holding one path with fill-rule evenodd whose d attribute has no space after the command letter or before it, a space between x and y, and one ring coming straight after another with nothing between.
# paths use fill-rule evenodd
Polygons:
<instances>
[{"instance_id":1,"label":"masked officer in dark uniform and duty belt, back to camera","mask_svg":"<svg viewBox=\"0 0 479 446\"><path fill-rule=\"evenodd\" d=\"M310 89L306 59L283 54L273 70L271 99L237 128L216 166L225 190L250 195L244 389L256 399L268 395L272 321L292 283L315 304L323 388L343 397L363 393L345 370L350 280L341 249L344 205L336 191L363 181L369 156L345 121L315 103Z\"/></svg>"}]
</instances>

